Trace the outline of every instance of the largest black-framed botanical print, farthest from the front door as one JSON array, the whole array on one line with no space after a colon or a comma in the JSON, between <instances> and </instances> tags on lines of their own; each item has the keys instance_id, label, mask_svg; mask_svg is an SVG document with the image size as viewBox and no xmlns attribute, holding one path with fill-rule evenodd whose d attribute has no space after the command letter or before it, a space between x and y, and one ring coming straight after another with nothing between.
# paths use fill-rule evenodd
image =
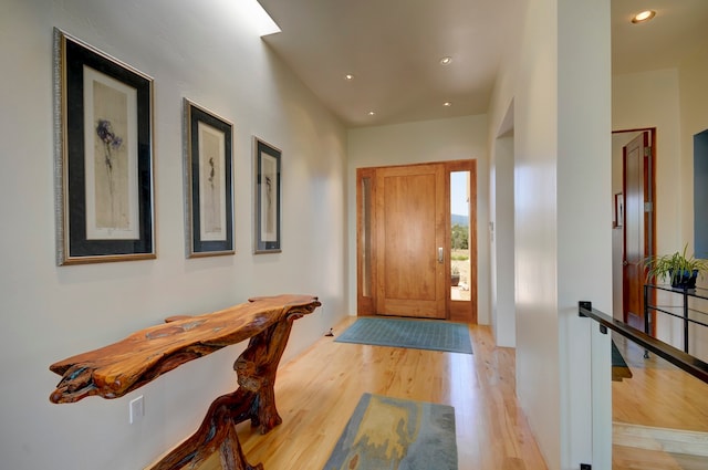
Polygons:
<instances>
[{"instance_id":1,"label":"largest black-framed botanical print, farthest from the front door","mask_svg":"<svg viewBox=\"0 0 708 470\"><path fill-rule=\"evenodd\" d=\"M153 79L54 29L56 262L156 258Z\"/></svg>"}]
</instances>

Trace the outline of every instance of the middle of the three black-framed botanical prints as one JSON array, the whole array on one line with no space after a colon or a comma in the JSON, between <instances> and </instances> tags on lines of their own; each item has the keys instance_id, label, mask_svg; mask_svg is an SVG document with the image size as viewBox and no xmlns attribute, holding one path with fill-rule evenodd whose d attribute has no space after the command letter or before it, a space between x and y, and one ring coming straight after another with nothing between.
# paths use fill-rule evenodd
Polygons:
<instances>
[{"instance_id":1,"label":"middle of the three black-framed botanical prints","mask_svg":"<svg viewBox=\"0 0 708 470\"><path fill-rule=\"evenodd\" d=\"M233 125L184 100L187 258L233 254Z\"/></svg>"}]
</instances>

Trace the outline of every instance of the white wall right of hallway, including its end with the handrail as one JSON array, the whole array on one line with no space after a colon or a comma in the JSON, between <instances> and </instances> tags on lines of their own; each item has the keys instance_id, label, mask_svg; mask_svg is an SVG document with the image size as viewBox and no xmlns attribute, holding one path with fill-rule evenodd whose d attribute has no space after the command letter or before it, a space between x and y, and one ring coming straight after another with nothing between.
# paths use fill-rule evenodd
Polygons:
<instances>
[{"instance_id":1,"label":"white wall right of hallway, including its end with the handrail","mask_svg":"<svg viewBox=\"0 0 708 470\"><path fill-rule=\"evenodd\" d=\"M577 316L612 301L610 1L532 2L519 49L490 111L513 100L517 393L551 470L610 468L608 338Z\"/></svg>"}]
</instances>

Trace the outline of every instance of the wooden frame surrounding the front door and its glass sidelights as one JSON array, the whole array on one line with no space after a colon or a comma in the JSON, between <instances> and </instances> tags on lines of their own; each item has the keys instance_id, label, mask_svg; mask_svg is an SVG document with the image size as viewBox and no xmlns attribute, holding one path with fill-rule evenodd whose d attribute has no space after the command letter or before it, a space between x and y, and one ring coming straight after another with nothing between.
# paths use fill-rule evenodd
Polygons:
<instances>
[{"instance_id":1,"label":"wooden frame surrounding the front door and its glass sidelights","mask_svg":"<svg viewBox=\"0 0 708 470\"><path fill-rule=\"evenodd\" d=\"M378 279L375 269L376 243L372 236L372 211L373 206L368 207L368 211L363 210L365 205L372 205L376 200L376 170L378 168L391 167L415 167L420 165L442 165L446 174L445 198L449 205L450 200L450 182L449 175L452 171L469 171L470 174L470 195L469 195L469 252L470 252L470 301L452 301L450 295L446 295L446 318L451 321L461 321L468 323L477 323L477 296L478 296L478 278L477 278L477 160L449 160L449 161L429 161L412 165L388 165L382 167L367 167L356 169L356 313L358 316L369 316L376 314L375 290ZM368 188L365 189L365 180L369 181ZM375 181L374 181L375 182ZM448 206L449 207L449 206ZM366 215L368 212L368 216ZM447 240L446 250L450 252L451 239L451 220L449 210L445 216L445 240ZM368 248L368 250L366 250ZM446 255L446 271L450 272L450 259ZM449 278L449 276L448 276ZM448 279L449 290L449 279ZM367 295L368 294L368 295Z\"/></svg>"}]
</instances>

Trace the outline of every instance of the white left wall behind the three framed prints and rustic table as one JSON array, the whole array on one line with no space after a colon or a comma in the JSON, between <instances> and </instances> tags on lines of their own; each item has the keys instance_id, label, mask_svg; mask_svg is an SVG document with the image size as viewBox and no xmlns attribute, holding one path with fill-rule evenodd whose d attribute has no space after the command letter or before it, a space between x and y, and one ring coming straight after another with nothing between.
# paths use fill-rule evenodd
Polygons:
<instances>
[{"instance_id":1,"label":"white left wall behind the three framed prints and rustic table","mask_svg":"<svg viewBox=\"0 0 708 470\"><path fill-rule=\"evenodd\" d=\"M52 28L155 79L156 260L55 265ZM49 365L249 296L300 292L292 357L347 314L346 135L227 0L4 0L0 4L0 455L13 470L135 470L189 436L236 387L242 345L114 400L52 405ZM236 255L185 259L181 100L235 125ZM253 255L251 136L283 150L281 254ZM145 419L128 425L128 400Z\"/></svg>"}]
</instances>

